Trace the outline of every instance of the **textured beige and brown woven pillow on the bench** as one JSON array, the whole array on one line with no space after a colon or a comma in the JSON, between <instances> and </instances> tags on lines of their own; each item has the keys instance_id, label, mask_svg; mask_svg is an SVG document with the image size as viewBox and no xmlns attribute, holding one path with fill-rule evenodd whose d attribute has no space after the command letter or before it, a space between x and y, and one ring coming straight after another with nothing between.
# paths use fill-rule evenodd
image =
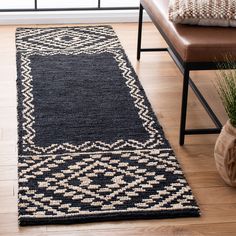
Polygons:
<instances>
[{"instance_id":1,"label":"textured beige and brown woven pillow on the bench","mask_svg":"<svg viewBox=\"0 0 236 236\"><path fill-rule=\"evenodd\" d=\"M170 0L168 14L174 23L236 27L236 0Z\"/></svg>"}]
</instances>

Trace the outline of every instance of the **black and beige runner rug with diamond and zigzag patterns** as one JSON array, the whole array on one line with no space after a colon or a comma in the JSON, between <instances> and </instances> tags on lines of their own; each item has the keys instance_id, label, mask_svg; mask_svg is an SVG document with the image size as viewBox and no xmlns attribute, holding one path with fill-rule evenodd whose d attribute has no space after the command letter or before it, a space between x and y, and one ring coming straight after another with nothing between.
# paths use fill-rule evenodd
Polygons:
<instances>
[{"instance_id":1,"label":"black and beige runner rug with diamond and zigzag patterns","mask_svg":"<svg viewBox=\"0 0 236 236\"><path fill-rule=\"evenodd\" d=\"M198 216L109 26L19 28L21 225Z\"/></svg>"}]
</instances>

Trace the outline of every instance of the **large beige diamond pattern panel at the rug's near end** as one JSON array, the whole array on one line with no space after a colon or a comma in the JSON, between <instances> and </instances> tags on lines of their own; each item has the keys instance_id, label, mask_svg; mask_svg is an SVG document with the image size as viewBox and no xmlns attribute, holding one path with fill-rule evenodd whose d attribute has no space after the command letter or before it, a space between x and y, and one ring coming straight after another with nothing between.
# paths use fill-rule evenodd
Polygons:
<instances>
[{"instance_id":1,"label":"large beige diamond pattern panel at the rug's near end","mask_svg":"<svg viewBox=\"0 0 236 236\"><path fill-rule=\"evenodd\" d=\"M28 196L20 204L25 215L160 211L188 209L194 204L170 150L60 155L43 160L25 157L19 176L25 186L19 195L22 199Z\"/></svg>"}]
</instances>

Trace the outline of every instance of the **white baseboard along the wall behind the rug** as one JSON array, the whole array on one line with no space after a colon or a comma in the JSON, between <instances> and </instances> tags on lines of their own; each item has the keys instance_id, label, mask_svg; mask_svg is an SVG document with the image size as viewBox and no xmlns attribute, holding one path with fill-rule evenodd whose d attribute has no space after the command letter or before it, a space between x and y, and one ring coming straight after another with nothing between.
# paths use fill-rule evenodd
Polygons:
<instances>
[{"instance_id":1,"label":"white baseboard along the wall behind the rug","mask_svg":"<svg viewBox=\"0 0 236 236\"><path fill-rule=\"evenodd\" d=\"M144 21L150 21L144 13ZM0 25L138 22L138 10L0 13Z\"/></svg>"}]
</instances>

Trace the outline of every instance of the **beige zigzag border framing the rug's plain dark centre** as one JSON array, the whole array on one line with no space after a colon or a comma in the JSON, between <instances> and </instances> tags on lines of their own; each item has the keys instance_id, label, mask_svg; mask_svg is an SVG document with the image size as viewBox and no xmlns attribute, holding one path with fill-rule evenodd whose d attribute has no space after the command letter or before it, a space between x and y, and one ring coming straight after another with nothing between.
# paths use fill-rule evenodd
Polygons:
<instances>
[{"instance_id":1,"label":"beige zigzag border framing the rug's plain dark centre","mask_svg":"<svg viewBox=\"0 0 236 236\"><path fill-rule=\"evenodd\" d=\"M117 61L120 70L122 71L123 78L126 80L126 85L130 89L130 96L134 100L134 106L138 108L138 115L143 121L143 127L149 133L149 139L146 142L139 142L135 139L123 140L119 139L114 143L105 143L103 141L85 141L81 145L73 145L70 143L62 144L51 144L47 147L40 147L35 145L34 138L36 136L36 131L33 128L35 123L34 119L34 104L33 104L33 85L32 85L32 75L30 67L30 56L32 55L55 55L55 54L64 54L64 55L79 55L82 53L85 54L101 54L101 53L111 53L114 59ZM132 76L131 68L127 66L127 61L124 58L122 46L117 37L106 40L105 42L100 42L94 45L85 46L80 50L50 50L50 51L22 51L21 52L21 75L22 75L22 94L23 99L23 111L22 117L25 120L23 122L23 130L26 134L23 136L23 151L32 152L34 154L49 153L53 154L57 151L66 151L66 152L78 152L78 151L89 151L89 150L119 150L121 148L155 148L163 144L163 137L159 134L159 131L155 129L155 121L148 114L149 109L144 104L145 98L140 94L140 89L136 85L135 77Z\"/></svg>"}]
</instances>

